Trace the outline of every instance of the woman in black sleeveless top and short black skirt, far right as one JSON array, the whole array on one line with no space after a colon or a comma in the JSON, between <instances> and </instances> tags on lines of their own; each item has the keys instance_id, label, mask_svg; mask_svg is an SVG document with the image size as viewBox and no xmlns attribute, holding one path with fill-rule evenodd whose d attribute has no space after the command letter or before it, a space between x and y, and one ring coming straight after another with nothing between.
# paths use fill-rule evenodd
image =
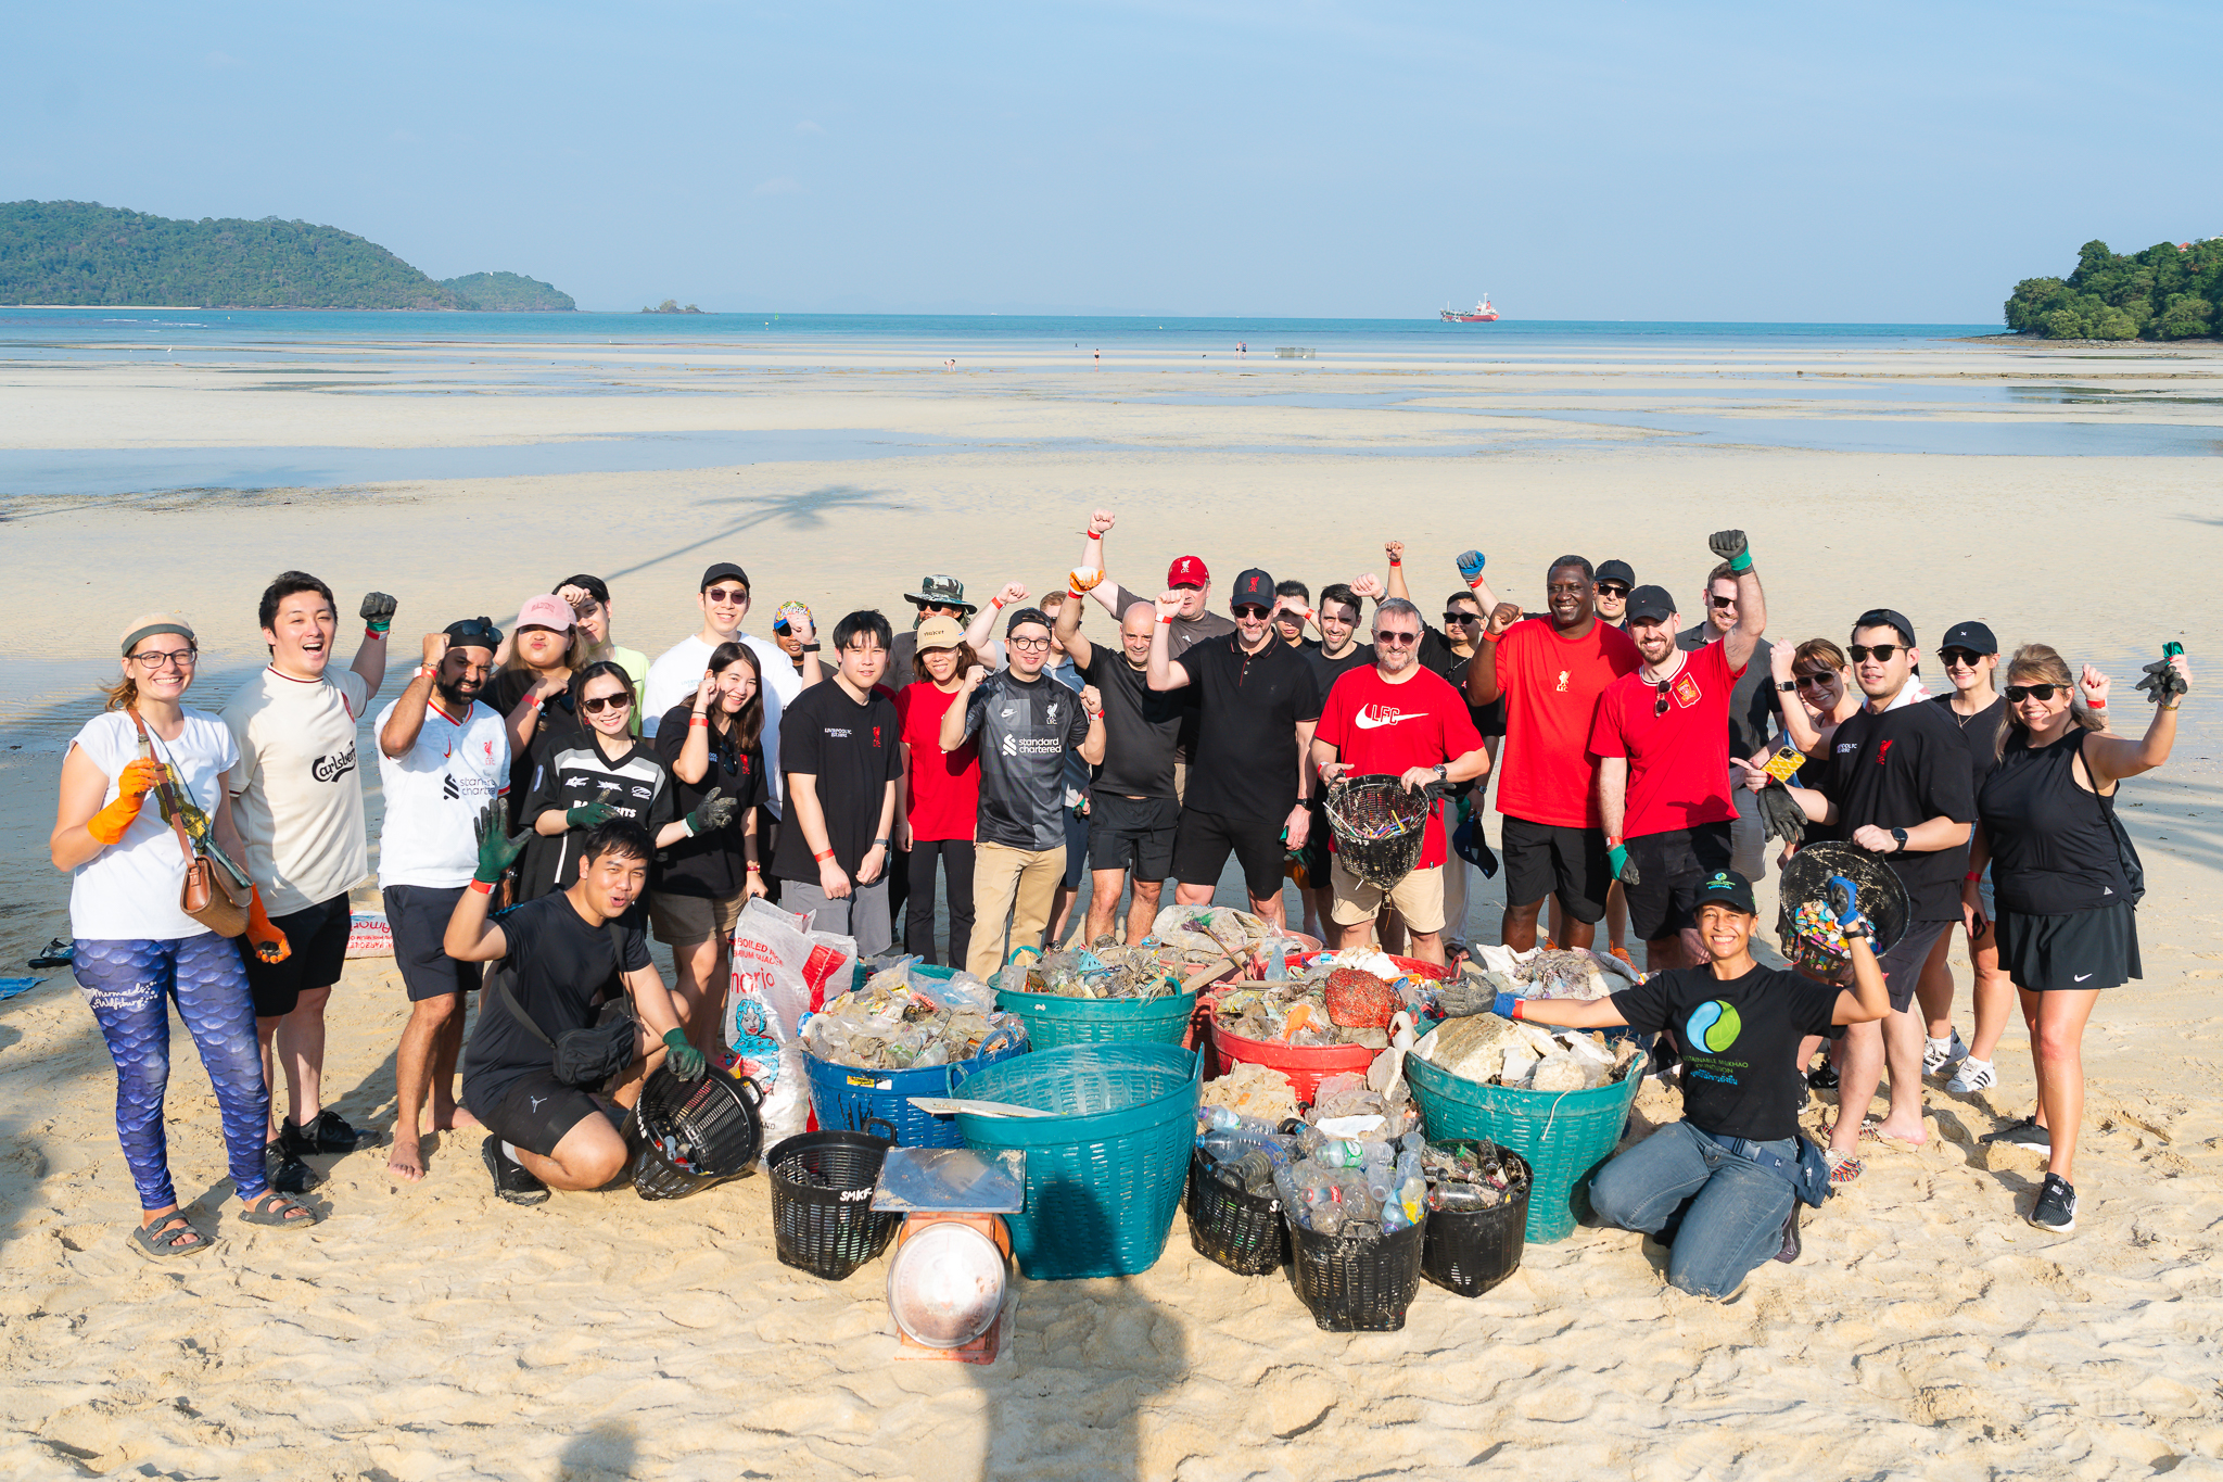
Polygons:
<instances>
[{"instance_id":1,"label":"woman in black sleeveless top and short black skirt, far right","mask_svg":"<svg viewBox=\"0 0 2223 1482\"><path fill-rule=\"evenodd\" d=\"M2045 1182L2030 1222L2076 1229L2076 1131L2083 1122L2083 1031L2105 989L2139 978L2136 893L2114 793L2154 771L2176 742L2176 707L2190 689L2183 653L2152 664L2154 720L2139 740L2105 735L2070 684L2070 667L2045 644L2007 660L2007 727L1998 767L1976 811L1983 829L1967 860L1963 902L1992 864L1998 895L1998 967L2014 980L2038 1073L2038 1109L1996 1140L2043 1146Z\"/></svg>"}]
</instances>

